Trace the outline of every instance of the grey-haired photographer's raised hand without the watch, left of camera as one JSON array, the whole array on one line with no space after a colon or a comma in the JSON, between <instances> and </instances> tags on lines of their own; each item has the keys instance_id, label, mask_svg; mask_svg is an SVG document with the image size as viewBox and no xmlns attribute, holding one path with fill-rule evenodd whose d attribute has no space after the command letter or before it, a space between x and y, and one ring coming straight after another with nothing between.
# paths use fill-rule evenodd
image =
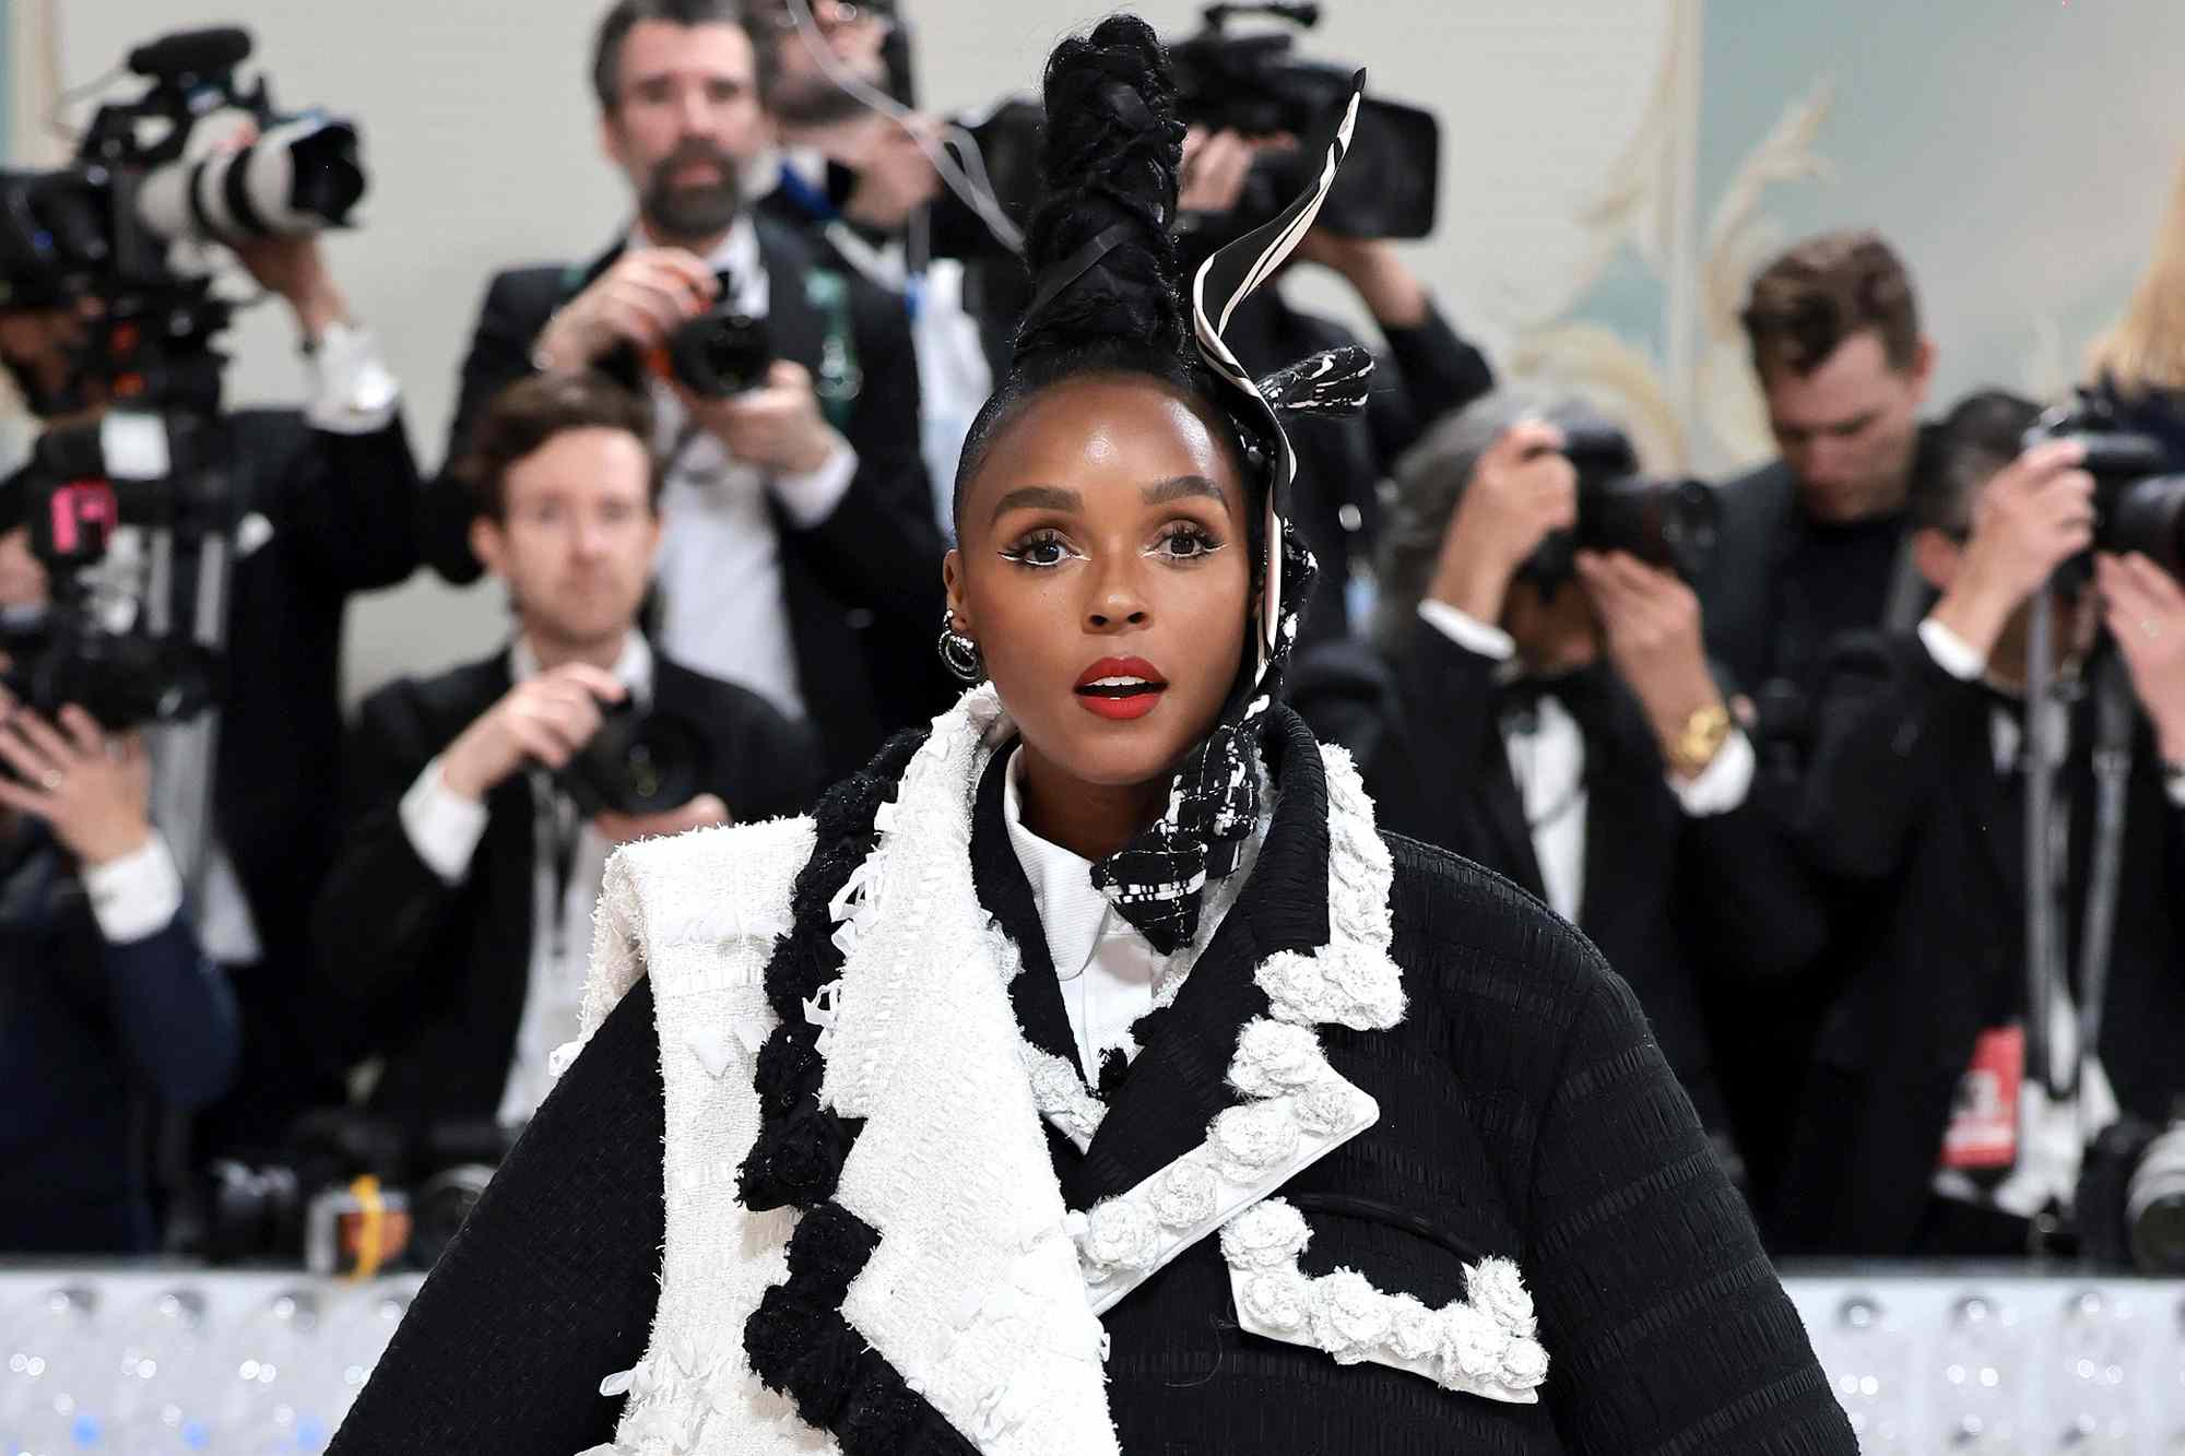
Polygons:
<instances>
[{"instance_id":1,"label":"grey-haired photographer's raised hand without the watch, left of camera","mask_svg":"<svg viewBox=\"0 0 2185 1456\"><path fill-rule=\"evenodd\" d=\"M1523 420L1473 468L1427 595L1477 621L1501 621L1519 566L1554 531L1575 525L1578 470L1562 455L1562 431Z\"/></svg>"}]
</instances>

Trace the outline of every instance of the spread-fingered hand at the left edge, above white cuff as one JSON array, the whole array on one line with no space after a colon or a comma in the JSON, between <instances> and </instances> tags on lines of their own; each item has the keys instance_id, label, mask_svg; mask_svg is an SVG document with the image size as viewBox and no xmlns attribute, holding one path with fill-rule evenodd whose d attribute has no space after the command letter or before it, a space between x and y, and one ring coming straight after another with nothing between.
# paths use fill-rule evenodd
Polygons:
<instances>
[{"instance_id":1,"label":"spread-fingered hand at the left edge, above white cuff","mask_svg":"<svg viewBox=\"0 0 2185 1456\"><path fill-rule=\"evenodd\" d=\"M0 691L0 807L44 820L81 864L109 864L151 839L142 737L107 735L74 704L55 726Z\"/></svg>"}]
</instances>

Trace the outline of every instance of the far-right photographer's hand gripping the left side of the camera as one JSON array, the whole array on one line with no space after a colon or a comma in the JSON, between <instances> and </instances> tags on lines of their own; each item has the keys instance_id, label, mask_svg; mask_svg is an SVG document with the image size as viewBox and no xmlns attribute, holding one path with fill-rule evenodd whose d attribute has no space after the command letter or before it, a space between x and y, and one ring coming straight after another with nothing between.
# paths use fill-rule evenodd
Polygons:
<instances>
[{"instance_id":1,"label":"far-right photographer's hand gripping the left side of the camera","mask_svg":"<svg viewBox=\"0 0 2185 1456\"><path fill-rule=\"evenodd\" d=\"M2093 544L2093 477L2082 461L2080 442L2050 439L1980 492L1964 564L1932 614L1980 656L1995 651L2010 614L2058 566Z\"/></svg>"}]
</instances>

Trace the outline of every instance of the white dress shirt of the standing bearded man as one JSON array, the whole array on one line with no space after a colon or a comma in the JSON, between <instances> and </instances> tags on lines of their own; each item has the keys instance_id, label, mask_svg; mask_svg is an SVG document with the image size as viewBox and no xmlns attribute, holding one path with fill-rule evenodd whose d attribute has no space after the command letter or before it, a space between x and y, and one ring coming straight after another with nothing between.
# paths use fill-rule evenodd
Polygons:
<instances>
[{"instance_id":1,"label":"white dress shirt of the standing bearded man","mask_svg":"<svg viewBox=\"0 0 2185 1456\"><path fill-rule=\"evenodd\" d=\"M642 230L629 247L651 247ZM728 271L736 306L765 317L771 280L758 251L758 230L739 216L706 258ZM795 280L802 284L802 280ZM811 474L760 470L730 457L717 435L697 426L675 389L651 380L653 446L669 461L660 496L660 645L677 662L752 689L789 717L804 717L789 608L782 601L782 542L767 498L793 527L808 529L835 514L857 474L857 453L839 444Z\"/></svg>"}]
</instances>

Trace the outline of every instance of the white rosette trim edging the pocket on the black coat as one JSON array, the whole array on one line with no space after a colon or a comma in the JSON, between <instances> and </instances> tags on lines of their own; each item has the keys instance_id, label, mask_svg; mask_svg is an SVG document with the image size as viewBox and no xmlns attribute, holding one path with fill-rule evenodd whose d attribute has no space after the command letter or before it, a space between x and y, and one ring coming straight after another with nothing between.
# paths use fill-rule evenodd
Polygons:
<instances>
[{"instance_id":1,"label":"white rosette trim edging the pocket on the black coat","mask_svg":"<svg viewBox=\"0 0 2185 1456\"><path fill-rule=\"evenodd\" d=\"M1532 1294L1510 1259L1466 1270L1466 1299L1429 1310L1412 1294L1383 1294L1366 1275L1337 1268L1318 1279L1298 1268L1311 1244L1304 1216L1280 1198L1256 1202L1221 1229L1230 1296L1248 1334L1309 1345L1337 1364L1385 1364L1446 1390L1530 1406L1547 1379L1547 1349Z\"/></svg>"}]
</instances>

